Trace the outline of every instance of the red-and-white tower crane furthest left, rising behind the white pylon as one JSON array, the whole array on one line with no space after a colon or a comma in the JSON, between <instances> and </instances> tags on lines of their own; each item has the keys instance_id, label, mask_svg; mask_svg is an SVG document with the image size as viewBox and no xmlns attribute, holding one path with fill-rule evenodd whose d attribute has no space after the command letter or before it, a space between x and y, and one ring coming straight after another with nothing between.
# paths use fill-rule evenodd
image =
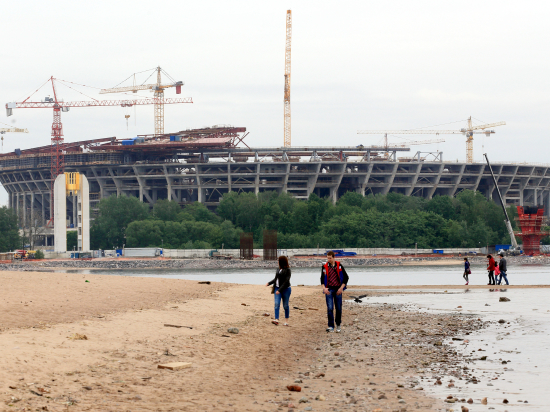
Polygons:
<instances>
[{"instance_id":1,"label":"red-and-white tower crane furthest left, rising behind the white pylon","mask_svg":"<svg viewBox=\"0 0 550 412\"><path fill-rule=\"evenodd\" d=\"M61 112L68 112L71 107L96 107L96 106L122 106L132 107L134 105L145 104L174 104L174 103L193 103L190 97L183 99L160 99L158 97L152 99L136 99L136 100L88 100L88 101L74 101L64 102L57 96L57 90L53 76L50 77L47 82L52 83L53 97L46 97L43 101L32 102L29 96L22 102L10 102L6 103L6 115L11 116L13 109L38 109L38 108L50 108L53 109L53 123L52 123L52 137L51 137L51 160L50 160L50 175L51 175L51 187L50 187L50 221L48 225L53 224L53 184L55 178L64 172L64 156L63 156L63 124L61 123ZM44 83L44 84L46 84ZM37 90L38 91L38 90ZM36 92L35 92L36 93ZM34 93L33 93L34 94Z\"/></svg>"}]
</instances>

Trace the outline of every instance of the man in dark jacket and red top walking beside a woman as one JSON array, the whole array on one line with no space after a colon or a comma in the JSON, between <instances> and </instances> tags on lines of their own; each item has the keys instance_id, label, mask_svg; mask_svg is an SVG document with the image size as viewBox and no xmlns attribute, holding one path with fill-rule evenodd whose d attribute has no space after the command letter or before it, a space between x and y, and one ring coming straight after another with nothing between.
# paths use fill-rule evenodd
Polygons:
<instances>
[{"instance_id":1,"label":"man in dark jacket and red top walking beside a woman","mask_svg":"<svg viewBox=\"0 0 550 412\"><path fill-rule=\"evenodd\" d=\"M327 262L321 267L321 285L327 301L327 332L340 332L342 323L342 292L348 284L348 274L344 266L334 260L334 252L327 252ZM334 323L334 309L336 309L336 325Z\"/></svg>"}]
</instances>

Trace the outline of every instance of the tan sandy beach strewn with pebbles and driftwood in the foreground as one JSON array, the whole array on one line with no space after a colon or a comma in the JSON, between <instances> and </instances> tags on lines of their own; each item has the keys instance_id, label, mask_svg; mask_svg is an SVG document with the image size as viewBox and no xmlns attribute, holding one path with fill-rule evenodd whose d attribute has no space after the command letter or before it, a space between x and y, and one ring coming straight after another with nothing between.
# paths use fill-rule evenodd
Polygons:
<instances>
[{"instance_id":1,"label":"tan sandy beach strewn with pebbles and driftwood in the foreground","mask_svg":"<svg viewBox=\"0 0 550 412\"><path fill-rule=\"evenodd\" d=\"M343 333L327 334L316 287L293 286L300 309L284 327L263 316L273 297L258 285L7 271L0 282L2 410L445 410L407 379L458 362L434 344L483 327L346 303ZM158 369L171 362L191 367Z\"/></svg>"}]
</instances>

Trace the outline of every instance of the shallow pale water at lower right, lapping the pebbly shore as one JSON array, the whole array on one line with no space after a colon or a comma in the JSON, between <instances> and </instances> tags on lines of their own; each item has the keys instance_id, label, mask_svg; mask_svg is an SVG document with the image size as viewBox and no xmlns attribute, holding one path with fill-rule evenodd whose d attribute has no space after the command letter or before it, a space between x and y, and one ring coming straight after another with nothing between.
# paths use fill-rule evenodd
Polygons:
<instances>
[{"instance_id":1,"label":"shallow pale water at lower right, lapping the pebbly shore","mask_svg":"<svg viewBox=\"0 0 550 412\"><path fill-rule=\"evenodd\" d=\"M478 360L467 365L470 369L475 369L475 376L481 382L471 384L454 377L456 387L448 388L450 377L445 377L442 379L443 385L435 386L433 379L430 379L431 383L427 382L432 373L426 370L421 373L425 376L422 381L424 390L439 399L446 398L447 395L459 399L473 398L473 405L466 404L470 411L550 410L550 400L546 396L547 379L550 377L550 290L494 289L491 292L487 289L474 289L451 293L443 290L433 292L394 294L395 291L392 291L389 296L368 298L368 304L405 304L410 305L409 310L462 313L485 321L498 322L503 319L506 323L496 323L488 329L461 336L469 342L445 341L463 354L470 354L477 359L487 356L486 361ZM501 296L508 297L510 302L499 302ZM457 306L462 306L462 309ZM507 364L503 364L503 361ZM480 404L484 397L489 398L488 405ZM510 403L503 404L504 399ZM460 405L449 405L449 408L459 411Z\"/></svg>"}]
</instances>

